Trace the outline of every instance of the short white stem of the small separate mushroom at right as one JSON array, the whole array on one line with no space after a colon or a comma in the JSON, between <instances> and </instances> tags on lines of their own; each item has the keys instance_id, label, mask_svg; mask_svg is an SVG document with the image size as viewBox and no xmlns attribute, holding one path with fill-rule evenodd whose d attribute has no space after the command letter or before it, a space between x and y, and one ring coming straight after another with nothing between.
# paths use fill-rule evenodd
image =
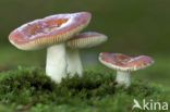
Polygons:
<instances>
[{"instance_id":1,"label":"short white stem of the small separate mushroom at right","mask_svg":"<svg viewBox=\"0 0 170 112\"><path fill-rule=\"evenodd\" d=\"M126 88L131 85L131 73L127 71L117 71L116 82L118 85L124 85Z\"/></svg>"}]
</instances>

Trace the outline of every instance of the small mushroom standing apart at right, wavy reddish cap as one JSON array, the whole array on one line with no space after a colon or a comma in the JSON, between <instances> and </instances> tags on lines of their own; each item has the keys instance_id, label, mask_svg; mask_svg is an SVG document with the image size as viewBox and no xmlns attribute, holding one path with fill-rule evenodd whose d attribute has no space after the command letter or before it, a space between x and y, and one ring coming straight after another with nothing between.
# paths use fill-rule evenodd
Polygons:
<instances>
[{"instance_id":1,"label":"small mushroom standing apart at right, wavy reddish cap","mask_svg":"<svg viewBox=\"0 0 170 112\"><path fill-rule=\"evenodd\" d=\"M146 55L132 58L122 53L106 52L99 54L99 61L104 65L116 70L116 82L118 85L124 85L126 88L131 85L131 72L147 67L154 63L154 60Z\"/></svg>"}]
</instances>

